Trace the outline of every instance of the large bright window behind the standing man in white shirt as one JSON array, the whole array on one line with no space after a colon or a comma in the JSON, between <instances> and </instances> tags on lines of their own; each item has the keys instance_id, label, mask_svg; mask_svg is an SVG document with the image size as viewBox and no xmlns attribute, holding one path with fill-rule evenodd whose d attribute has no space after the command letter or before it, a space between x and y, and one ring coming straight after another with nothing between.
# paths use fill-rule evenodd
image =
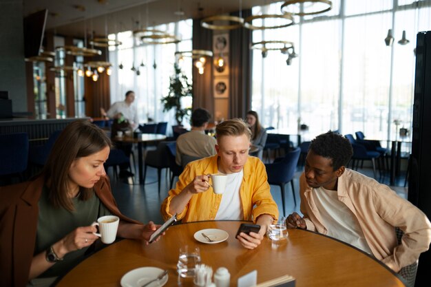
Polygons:
<instances>
[{"instance_id":1,"label":"large bright window behind the standing man in white shirt","mask_svg":"<svg viewBox=\"0 0 431 287\"><path fill-rule=\"evenodd\" d=\"M169 91L169 77L174 74L175 52L191 50L191 19L156 26L154 29L171 34L175 32L182 41L178 44L139 45L131 31L109 35L123 43L110 48L109 52L112 64L123 67L113 70L110 81L111 102L124 100L125 93L133 90L136 94L135 104L138 107L140 123L147 123L150 119L169 122L175 118L174 111L163 112L160 98L166 96ZM182 65L182 70L191 78L191 64Z\"/></svg>"}]
</instances>

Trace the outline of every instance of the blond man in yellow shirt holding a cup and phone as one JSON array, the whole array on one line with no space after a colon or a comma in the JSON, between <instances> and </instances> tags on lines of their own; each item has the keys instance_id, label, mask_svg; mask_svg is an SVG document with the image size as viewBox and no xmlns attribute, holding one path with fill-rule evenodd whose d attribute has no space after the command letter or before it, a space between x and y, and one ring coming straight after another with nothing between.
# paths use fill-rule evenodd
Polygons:
<instances>
[{"instance_id":1,"label":"blond man in yellow shirt holding a cup and phone","mask_svg":"<svg viewBox=\"0 0 431 287\"><path fill-rule=\"evenodd\" d=\"M266 169L259 158L249 156L251 131L244 121L226 120L217 125L215 133L217 154L187 164L176 189L162 203L162 216L167 220L177 213L182 222L253 220L261 226L259 233L238 236L245 248L253 249L278 217ZM209 190L208 175L213 173L229 176L223 194Z\"/></svg>"}]
</instances>

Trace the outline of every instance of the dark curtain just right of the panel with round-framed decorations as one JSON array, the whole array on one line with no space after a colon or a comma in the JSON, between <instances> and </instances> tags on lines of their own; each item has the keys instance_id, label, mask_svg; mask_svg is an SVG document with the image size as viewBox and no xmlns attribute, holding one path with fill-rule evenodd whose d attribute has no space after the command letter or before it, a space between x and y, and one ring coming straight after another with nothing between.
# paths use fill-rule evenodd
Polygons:
<instances>
[{"instance_id":1,"label":"dark curtain just right of the panel with round-framed decorations","mask_svg":"<svg viewBox=\"0 0 431 287\"><path fill-rule=\"evenodd\" d=\"M231 13L238 16L238 12ZM242 18L251 16L251 9L242 11ZM229 59L230 59L230 94L229 118L245 118L251 109L251 71L252 52L250 50L251 30L240 28L231 30Z\"/></svg>"}]
</instances>

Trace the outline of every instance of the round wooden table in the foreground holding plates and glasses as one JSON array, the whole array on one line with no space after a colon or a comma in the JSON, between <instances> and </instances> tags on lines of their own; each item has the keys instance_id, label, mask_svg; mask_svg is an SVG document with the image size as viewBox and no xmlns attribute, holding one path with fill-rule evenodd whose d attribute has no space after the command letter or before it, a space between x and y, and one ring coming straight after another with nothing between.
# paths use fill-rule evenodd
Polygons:
<instances>
[{"instance_id":1,"label":"round wooden table in the foreground holding plates and glasses","mask_svg":"<svg viewBox=\"0 0 431 287\"><path fill-rule=\"evenodd\" d=\"M231 287L238 277L257 270L257 283L282 275L292 275L297 287L313 286L404 286L396 273L377 259L356 248L300 229L288 229L288 239L280 244L265 237L254 250L243 248L235 234L242 222L208 221L171 226L158 242L145 245L138 240L121 240L85 259L67 273L57 286L120 286L129 270L155 266L169 270L165 286L178 286L176 264L180 246L198 246L202 264L215 271L224 266L231 273ZM204 244L193 234L204 228L229 233L225 242ZM185 282L183 286L193 286Z\"/></svg>"}]
</instances>

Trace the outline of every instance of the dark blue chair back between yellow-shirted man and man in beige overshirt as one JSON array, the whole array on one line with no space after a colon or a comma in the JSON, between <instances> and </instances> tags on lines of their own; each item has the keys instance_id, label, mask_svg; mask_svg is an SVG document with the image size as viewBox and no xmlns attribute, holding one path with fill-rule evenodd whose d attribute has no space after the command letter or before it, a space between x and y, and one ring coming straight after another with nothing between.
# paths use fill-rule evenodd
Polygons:
<instances>
[{"instance_id":1,"label":"dark blue chair back between yellow-shirted man and man in beige overshirt","mask_svg":"<svg viewBox=\"0 0 431 287\"><path fill-rule=\"evenodd\" d=\"M290 182L295 176L296 166L299 160L299 147L289 151L281 162L265 164L269 182Z\"/></svg>"}]
</instances>

